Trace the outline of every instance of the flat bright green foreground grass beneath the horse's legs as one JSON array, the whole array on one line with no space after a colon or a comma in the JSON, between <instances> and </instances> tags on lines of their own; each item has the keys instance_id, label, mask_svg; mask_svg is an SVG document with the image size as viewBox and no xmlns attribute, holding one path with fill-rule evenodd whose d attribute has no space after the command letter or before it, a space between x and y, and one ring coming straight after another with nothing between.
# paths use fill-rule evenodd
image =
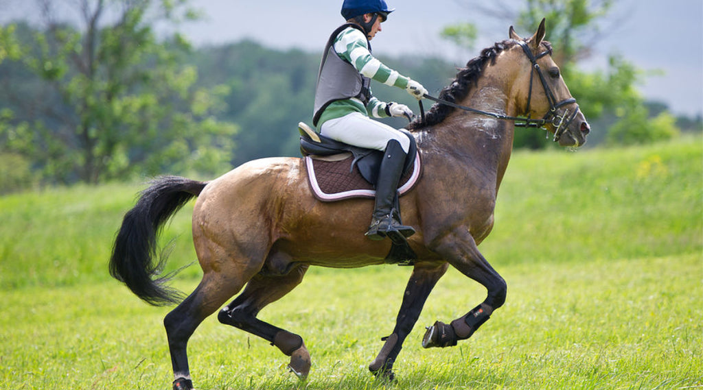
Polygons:
<instances>
[{"instance_id":1,"label":"flat bright green foreground grass beneath the horse's legs","mask_svg":"<svg viewBox=\"0 0 703 390\"><path fill-rule=\"evenodd\" d=\"M459 347L425 350L421 325L451 320L483 295L456 271L439 282L396 363L396 388L703 385L699 256L522 264L501 271L510 285L505 307ZM392 329L408 273L390 266L314 269L297 290L262 312L266 320L305 337L314 362L307 384L285 372L287 358L277 349L208 318L189 347L196 384L200 389L390 387L370 377L366 365L381 347L380 337ZM2 302L4 388L167 388L170 367L161 326L167 309L141 304L117 283L6 291Z\"/></svg>"}]
</instances>

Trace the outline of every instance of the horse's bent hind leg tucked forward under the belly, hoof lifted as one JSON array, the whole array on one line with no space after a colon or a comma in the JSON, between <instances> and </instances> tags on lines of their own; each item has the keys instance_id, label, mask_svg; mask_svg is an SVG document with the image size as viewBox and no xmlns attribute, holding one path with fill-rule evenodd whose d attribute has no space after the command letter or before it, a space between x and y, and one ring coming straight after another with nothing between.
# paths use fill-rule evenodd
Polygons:
<instances>
[{"instance_id":1,"label":"horse's bent hind leg tucked forward under the belly, hoof lifted","mask_svg":"<svg viewBox=\"0 0 703 390\"><path fill-rule=\"evenodd\" d=\"M299 285L307 269L307 265L299 265L283 276L254 276L244 291L217 316L221 323L262 337L278 347L283 354L290 356L288 367L300 378L307 377L311 365L302 337L259 320L257 314Z\"/></svg>"}]
</instances>

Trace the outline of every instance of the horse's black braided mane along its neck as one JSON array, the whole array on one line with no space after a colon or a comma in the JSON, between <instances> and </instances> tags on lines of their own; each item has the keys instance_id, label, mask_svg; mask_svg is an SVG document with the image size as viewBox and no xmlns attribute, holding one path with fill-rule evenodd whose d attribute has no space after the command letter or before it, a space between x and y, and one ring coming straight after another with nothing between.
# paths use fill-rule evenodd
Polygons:
<instances>
[{"instance_id":1,"label":"horse's black braided mane along its neck","mask_svg":"<svg viewBox=\"0 0 703 390\"><path fill-rule=\"evenodd\" d=\"M481 51L481 55L473 60L467 62L466 67L460 69L456 74L456 79L452 81L449 86L444 87L439 93L439 98L441 100L447 100L449 102L460 102L468 95L469 91L473 86L477 85L478 79L483 73L483 69L490 62L493 65L496 62L496 57L501 52L512 48L515 46L515 41L512 39L506 39L502 42L497 42L493 47L484 48ZM425 114L425 121L418 118L410 123L407 127L408 130L418 130L427 126L434 126L437 123L444 121L447 115L452 112L453 108L447 105L440 105L435 103L432 108Z\"/></svg>"}]
</instances>

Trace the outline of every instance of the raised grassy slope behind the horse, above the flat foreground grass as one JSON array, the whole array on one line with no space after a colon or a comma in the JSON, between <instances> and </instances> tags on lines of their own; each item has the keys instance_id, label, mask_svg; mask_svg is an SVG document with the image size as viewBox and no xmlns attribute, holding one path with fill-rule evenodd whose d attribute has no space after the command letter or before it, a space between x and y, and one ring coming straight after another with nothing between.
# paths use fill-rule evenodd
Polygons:
<instances>
[{"instance_id":1,"label":"raised grassy slope behind the horse, above the flat foreground grass","mask_svg":"<svg viewBox=\"0 0 703 390\"><path fill-rule=\"evenodd\" d=\"M112 238L143 185L77 186L0 198L0 288L108 280ZM662 257L703 250L703 142L517 152L482 244L494 265ZM169 267L195 260L192 204L165 229ZM184 278L198 276L197 266Z\"/></svg>"}]
</instances>

